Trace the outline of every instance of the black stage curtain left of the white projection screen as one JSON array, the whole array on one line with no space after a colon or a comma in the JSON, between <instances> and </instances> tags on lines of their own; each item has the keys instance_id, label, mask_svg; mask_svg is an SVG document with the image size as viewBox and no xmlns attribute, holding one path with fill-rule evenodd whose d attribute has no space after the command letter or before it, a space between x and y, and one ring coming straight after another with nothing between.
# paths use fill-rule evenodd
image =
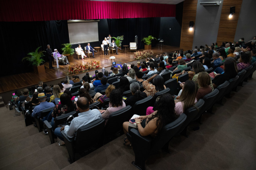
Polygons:
<instances>
[{"instance_id":1,"label":"black stage curtain left of the white projection screen","mask_svg":"<svg viewBox=\"0 0 256 170\"><path fill-rule=\"evenodd\" d=\"M0 76L31 72L32 66L21 60L29 52L46 50L47 44L61 52L61 44L69 43L68 23L62 21L0 22ZM47 59L44 57L44 60Z\"/></svg>"}]
</instances>

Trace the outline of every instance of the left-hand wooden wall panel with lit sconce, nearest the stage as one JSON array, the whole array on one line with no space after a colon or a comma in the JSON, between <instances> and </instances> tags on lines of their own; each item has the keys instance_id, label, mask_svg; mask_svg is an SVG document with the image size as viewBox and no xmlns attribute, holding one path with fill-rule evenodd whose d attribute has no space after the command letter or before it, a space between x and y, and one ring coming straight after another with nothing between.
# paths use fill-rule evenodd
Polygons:
<instances>
[{"instance_id":1,"label":"left-hand wooden wall panel with lit sconce, nearest the stage","mask_svg":"<svg viewBox=\"0 0 256 170\"><path fill-rule=\"evenodd\" d=\"M189 30L189 22L194 21L196 23L197 13L197 0L185 0L183 2L183 17L181 28L181 43L180 48L184 51L193 49L194 28Z\"/></svg>"}]
</instances>

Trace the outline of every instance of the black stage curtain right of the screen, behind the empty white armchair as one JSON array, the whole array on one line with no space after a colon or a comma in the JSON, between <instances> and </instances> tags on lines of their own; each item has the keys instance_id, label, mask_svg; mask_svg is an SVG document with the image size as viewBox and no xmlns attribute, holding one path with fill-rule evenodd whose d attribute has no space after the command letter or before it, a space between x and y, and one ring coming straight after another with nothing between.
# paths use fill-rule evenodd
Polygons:
<instances>
[{"instance_id":1,"label":"black stage curtain right of the screen, behind the empty white armchair","mask_svg":"<svg viewBox=\"0 0 256 170\"><path fill-rule=\"evenodd\" d=\"M129 45L135 42L135 36L138 36L138 49L144 48L142 38L152 35L158 39L160 31L160 18L125 18L125 19L107 19L108 28L112 37L124 35L122 45ZM157 40L152 41L155 46Z\"/></svg>"}]
</instances>

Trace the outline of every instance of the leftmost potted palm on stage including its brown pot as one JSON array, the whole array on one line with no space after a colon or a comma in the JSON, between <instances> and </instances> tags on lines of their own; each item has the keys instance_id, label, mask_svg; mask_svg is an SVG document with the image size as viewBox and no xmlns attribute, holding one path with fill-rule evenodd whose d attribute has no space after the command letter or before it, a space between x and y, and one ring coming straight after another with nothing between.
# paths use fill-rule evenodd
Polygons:
<instances>
[{"instance_id":1,"label":"leftmost potted palm on stage including its brown pot","mask_svg":"<svg viewBox=\"0 0 256 170\"><path fill-rule=\"evenodd\" d=\"M36 73L36 74L45 73L45 68L44 68L44 64L43 64L44 59L42 59L42 57L44 56L43 53L45 51L38 52L39 48L41 48L41 47L38 47L38 48L36 48L35 51L28 53L29 56L24 57L22 59L22 61L24 59L29 61L29 63L33 66L34 73Z\"/></svg>"}]
</instances>

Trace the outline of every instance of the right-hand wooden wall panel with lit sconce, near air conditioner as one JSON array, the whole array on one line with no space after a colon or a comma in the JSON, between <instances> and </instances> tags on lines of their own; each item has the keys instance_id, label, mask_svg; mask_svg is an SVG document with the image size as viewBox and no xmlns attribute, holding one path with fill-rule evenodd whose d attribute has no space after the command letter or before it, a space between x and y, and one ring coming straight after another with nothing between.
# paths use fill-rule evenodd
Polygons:
<instances>
[{"instance_id":1,"label":"right-hand wooden wall panel with lit sconce, near air conditioner","mask_svg":"<svg viewBox=\"0 0 256 170\"><path fill-rule=\"evenodd\" d=\"M237 22L240 14L240 9L243 0L224 0L221 10L221 18L217 36L217 43L221 45L222 42L233 42L236 33ZM232 18L229 18L230 7L235 6L235 13Z\"/></svg>"}]
</instances>

